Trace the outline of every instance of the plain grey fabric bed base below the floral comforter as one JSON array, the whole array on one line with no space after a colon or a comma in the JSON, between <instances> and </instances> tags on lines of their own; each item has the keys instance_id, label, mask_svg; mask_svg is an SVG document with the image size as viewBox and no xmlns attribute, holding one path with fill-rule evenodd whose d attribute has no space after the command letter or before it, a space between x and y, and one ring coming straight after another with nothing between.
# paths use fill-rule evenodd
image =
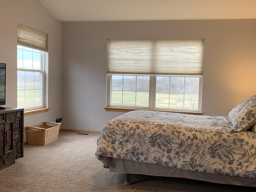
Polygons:
<instances>
[{"instance_id":1,"label":"plain grey fabric bed base below the floral comforter","mask_svg":"<svg viewBox=\"0 0 256 192\"><path fill-rule=\"evenodd\" d=\"M253 178L232 177L218 174L186 171L157 164L147 164L123 159L110 158L109 168L110 172L123 174L142 174L151 176L188 178L220 184L256 187L256 179Z\"/></svg>"}]
</instances>

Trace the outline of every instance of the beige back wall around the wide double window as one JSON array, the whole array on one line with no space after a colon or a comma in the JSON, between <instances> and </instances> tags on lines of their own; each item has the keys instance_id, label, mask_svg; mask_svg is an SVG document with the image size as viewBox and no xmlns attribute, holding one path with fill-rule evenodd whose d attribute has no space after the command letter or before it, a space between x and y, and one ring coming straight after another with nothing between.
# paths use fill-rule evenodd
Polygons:
<instances>
[{"instance_id":1,"label":"beige back wall around the wide double window","mask_svg":"<svg viewBox=\"0 0 256 192\"><path fill-rule=\"evenodd\" d=\"M107 40L205 38L202 111L227 116L256 94L256 20L64 22L62 118L66 129L101 130L106 112Z\"/></svg>"}]
</instances>

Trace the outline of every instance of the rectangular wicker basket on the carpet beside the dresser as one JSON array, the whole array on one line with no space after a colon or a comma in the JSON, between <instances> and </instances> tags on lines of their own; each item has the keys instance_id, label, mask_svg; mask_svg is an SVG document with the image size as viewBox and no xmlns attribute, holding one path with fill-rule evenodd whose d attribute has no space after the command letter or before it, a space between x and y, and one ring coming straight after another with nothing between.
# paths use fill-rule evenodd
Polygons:
<instances>
[{"instance_id":1,"label":"rectangular wicker basket on the carpet beside the dresser","mask_svg":"<svg viewBox=\"0 0 256 192\"><path fill-rule=\"evenodd\" d=\"M28 144L44 146L58 140L61 123L42 122L34 126L26 126Z\"/></svg>"}]
</instances>

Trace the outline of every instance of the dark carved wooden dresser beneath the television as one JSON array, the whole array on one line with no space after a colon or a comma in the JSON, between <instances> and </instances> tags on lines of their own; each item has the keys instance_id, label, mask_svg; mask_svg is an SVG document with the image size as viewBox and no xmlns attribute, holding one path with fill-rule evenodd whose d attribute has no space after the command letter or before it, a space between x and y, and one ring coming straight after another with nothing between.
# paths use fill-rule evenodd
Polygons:
<instances>
[{"instance_id":1,"label":"dark carved wooden dresser beneath the television","mask_svg":"<svg viewBox=\"0 0 256 192\"><path fill-rule=\"evenodd\" d=\"M23 157L24 109L0 109L0 170Z\"/></svg>"}]
</instances>

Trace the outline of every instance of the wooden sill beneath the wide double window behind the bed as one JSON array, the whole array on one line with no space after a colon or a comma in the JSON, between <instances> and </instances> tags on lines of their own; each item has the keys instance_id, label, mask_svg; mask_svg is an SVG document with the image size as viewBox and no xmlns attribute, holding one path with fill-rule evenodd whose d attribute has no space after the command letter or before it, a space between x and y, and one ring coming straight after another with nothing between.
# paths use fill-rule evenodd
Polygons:
<instances>
[{"instance_id":1,"label":"wooden sill beneath the wide double window behind the bed","mask_svg":"<svg viewBox=\"0 0 256 192\"><path fill-rule=\"evenodd\" d=\"M117 107L104 107L106 111L114 112L129 112L133 110L150 110L150 111L162 111L162 112L172 112L172 113L183 113L183 114L192 114L192 115L202 115L202 112L194 111L172 111L172 110L162 110L162 109L137 109L137 108L117 108Z\"/></svg>"}]
</instances>

